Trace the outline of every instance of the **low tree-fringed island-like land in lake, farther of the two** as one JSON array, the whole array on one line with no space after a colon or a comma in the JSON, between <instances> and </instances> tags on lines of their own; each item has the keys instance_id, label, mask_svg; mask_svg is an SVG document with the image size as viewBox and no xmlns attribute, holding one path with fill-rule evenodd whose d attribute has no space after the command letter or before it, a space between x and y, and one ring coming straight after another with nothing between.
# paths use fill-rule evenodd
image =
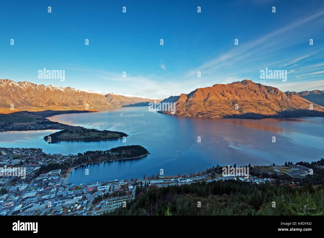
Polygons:
<instances>
[{"instance_id":1,"label":"low tree-fringed island-like land in lake, farther of the two","mask_svg":"<svg viewBox=\"0 0 324 238\"><path fill-rule=\"evenodd\" d=\"M99 131L97 129L87 129L78 127L65 129L44 136L44 140L48 143L53 143L57 141L101 141L121 139L124 136L128 135L123 132L113 132L107 130Z\"/></svg>"}]
</instances>

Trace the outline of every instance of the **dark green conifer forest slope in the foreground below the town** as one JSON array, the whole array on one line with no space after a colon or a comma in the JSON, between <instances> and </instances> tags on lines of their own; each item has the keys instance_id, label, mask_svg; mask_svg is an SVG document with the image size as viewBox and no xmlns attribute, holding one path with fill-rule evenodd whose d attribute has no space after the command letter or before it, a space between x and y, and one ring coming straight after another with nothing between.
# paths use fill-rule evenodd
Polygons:
<instances>
[{"instance_id":1,"label":"dark green conifer forest slope in the foreground below the town","mask_svg":"<svg viewBox=\"0 0 324 238\"><path fill-rule=\"evenodd\" d=\"M137 186L135 200L105 215L323 215L323 204L323 186L292 188L229 180Z\"/></svg>"}]
</instances>

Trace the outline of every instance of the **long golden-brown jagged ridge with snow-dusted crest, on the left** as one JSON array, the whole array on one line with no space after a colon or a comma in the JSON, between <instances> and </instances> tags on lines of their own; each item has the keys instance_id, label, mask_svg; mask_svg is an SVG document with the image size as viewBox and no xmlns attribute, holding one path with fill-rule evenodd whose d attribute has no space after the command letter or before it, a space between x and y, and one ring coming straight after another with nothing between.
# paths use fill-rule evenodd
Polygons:
<instances>
[{"instance_id":1,"label":"long golden-brown jagged ridge with snow-dusted crest, on the left","mask_svg":"<svg viewBox=\"0 0 324 238\"><path fill-rule=\"evenodd\" d=\"M138 103L148 105L149 102L161 101L128 94L113 94L108 92L89 91L71 87L56 87L54 85L37 85L31 82L14 82L0 80L0 107L33 106L33 107L119 107L133 106Z\"/></svg>"}]
</instances>

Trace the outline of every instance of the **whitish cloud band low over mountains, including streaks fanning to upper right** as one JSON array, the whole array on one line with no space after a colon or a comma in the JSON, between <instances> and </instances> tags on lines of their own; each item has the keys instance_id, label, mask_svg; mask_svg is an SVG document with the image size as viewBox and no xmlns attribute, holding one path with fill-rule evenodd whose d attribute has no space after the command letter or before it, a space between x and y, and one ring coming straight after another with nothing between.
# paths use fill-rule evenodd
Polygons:
<instances>
[{"instance_id":1,"label":"whitish cloud band low over mountains, including streaks fanning to upper right","mask_svg":"<svg viewBox=\"0 0 324 238\"><path fill-rule=\"evenodd\" d=\"M315 35L318 32L316 25L319 18L324 15L324 10L307 14L309 15L270 33L265 32L255 40L240 41L237 46L229 43L230 50L225 49L224 53L217 57L201 60L202 63L195 69L187 68L183 72L174 72L171 70L172 67L169 68L171 71L168 71L165 64L159 64L159 68L168 73L156 71L155 75L152 72L148 74L138 70L126 70L126 78L122 77L121 72L93 68L86 70L96 72L95 77L104 79L103 86L111 88L105 90L158 98L190 93L199 87L208 87L216 83L226 84L247 78L265 85L277 86L282 91L314 90L316 89L314 87L321 90L324 86L321 78L323 47L319 41L316 41L317 45L310 46L308 40L295 36L304 32L305 28L308 35ZM265 68L287 69L287 81L261 80L260 70ZM201 71L201 78L197 78L198 71Z\"/></svg>"}]
</instances>

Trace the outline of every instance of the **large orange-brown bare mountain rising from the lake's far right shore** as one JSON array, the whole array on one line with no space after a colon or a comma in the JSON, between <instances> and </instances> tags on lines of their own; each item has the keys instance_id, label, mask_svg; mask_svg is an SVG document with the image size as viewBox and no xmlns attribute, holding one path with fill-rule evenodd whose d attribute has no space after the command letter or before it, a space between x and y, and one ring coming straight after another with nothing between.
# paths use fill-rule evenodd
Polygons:
<instances>
[{"instance_id":1,"label":"large orange-brown bare mountain rising from the lake's far right shore","mask_svg":"<svg viewBox=\"0 0 324 238\"><path fill-rule=\"evenodd\" d=\"M172 96L161 101L163 102L174 103L174 115L177 116L208 118L324 116L323 106L248 79L198 88L190 94ZM313 104L313 110L309 109L309 104ZM161 113L172 114L171 111Z\"/></svg>"}]
</instances>

